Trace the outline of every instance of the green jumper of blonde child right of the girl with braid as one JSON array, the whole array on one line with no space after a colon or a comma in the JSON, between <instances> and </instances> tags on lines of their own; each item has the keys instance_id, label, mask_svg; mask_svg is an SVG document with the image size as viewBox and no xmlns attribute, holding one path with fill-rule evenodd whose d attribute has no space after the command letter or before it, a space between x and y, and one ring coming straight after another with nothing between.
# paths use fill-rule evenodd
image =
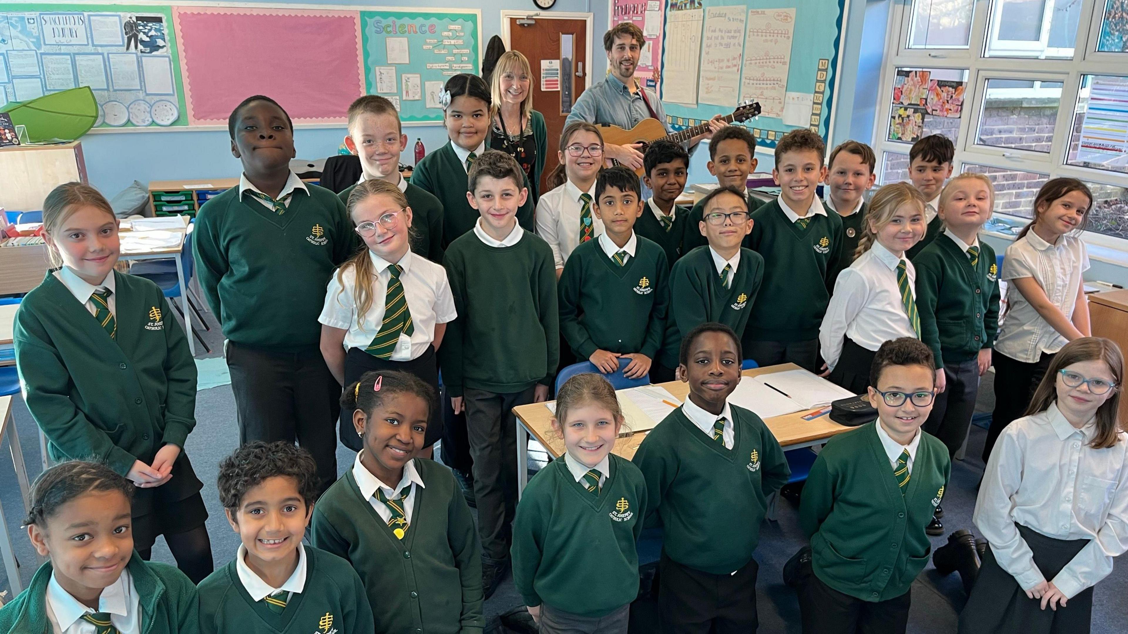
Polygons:
<instances>
[{"instance_id":1,"label":"green jumper of blonde child right of the girl with braid","mask_svg":"<svg viewBox=\"0 0 1128 634\"><path fill-rule=\"evenodd\" d=\"M941 234L913 261L917 271L920 340L936 367L975 359L998 334L998 265L995 249L979 240L979 262Z\"/></svg>"}]
</instances>

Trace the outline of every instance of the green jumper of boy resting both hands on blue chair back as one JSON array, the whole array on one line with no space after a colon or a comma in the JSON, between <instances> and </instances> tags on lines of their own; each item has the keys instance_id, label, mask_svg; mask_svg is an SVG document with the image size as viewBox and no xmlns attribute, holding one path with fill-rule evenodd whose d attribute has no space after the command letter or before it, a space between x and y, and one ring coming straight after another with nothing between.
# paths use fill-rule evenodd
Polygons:
<instances>
[{"instance_id":1,"label":"green jumper of boy resting both hands on blue chair back","mask_svg":"<svg viewBox=\"0 0 1128 634\"><path fill-rule=\"evenodd\" d=\"M625 266L598 239L578 246L559 280L561 332L576 359L606 350L653 360L666 331L668 271L662 247L641 236Z\"/></svg>"}]
</instances>

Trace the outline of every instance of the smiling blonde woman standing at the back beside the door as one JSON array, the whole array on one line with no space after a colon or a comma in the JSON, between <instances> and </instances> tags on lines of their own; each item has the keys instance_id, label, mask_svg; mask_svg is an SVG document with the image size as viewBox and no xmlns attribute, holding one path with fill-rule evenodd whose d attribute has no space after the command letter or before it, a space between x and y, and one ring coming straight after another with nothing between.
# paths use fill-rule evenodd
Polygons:
<instances>
[{"instance_id":1,"label":"smiling blonde woman standing at the back beside the door","mask_svg":"<svg viewBox=\"0 0 1128 634\"><path fill-rule=\"evenodd\" d=\"M545 117L532 109L532 70L519 51L497 59L490 78L493 103L490 107L490 149L501 150L517 160L529 177L532 204L540 200L540 173L548 156L548 129Z\"/></svg>"}]
</instances>

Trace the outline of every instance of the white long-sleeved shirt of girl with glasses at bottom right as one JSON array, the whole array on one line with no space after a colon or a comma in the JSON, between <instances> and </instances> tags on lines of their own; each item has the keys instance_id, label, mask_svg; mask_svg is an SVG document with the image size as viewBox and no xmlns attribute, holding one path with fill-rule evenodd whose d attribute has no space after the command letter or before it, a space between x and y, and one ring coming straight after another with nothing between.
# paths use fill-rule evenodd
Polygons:
<instances>
[{"instance_id":1,"label":"white long-sleeved shirt of girl with glasses at bottom right","mask_svg":"<svg viewBox=\"0 0 1128 634\"><path fill-rule=\"evenodd\" d=\"M1066 598L1112 572L1128 551L1128 434L1093 449L1096 426L1069 424L1057 403L1006 426L987 460L971 520L998 564L1030 590L1046 578L1014 523L1055 539L1091 539L1050 581Z\"/></svg>"}]
</instances>

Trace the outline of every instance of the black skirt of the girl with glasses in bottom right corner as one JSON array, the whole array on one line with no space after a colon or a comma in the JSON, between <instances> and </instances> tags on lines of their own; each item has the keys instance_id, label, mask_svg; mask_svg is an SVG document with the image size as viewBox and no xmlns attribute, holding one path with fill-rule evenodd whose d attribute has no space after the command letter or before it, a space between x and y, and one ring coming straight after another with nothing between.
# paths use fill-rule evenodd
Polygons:
<instances>
[{"instance_id":1,"label":"black skirt of the girl with glasses in bottom right corner","mask_svg":"<svg viewBox=\"0 0 1128 634\"><path fill-rule=\"evenodd\" d=\"M1089 539L1054 539L1015 523L1022 539L1034 553L1034 564L1047 581L1089 544ZM1069 599L1067 606L1049 606L1031 599L1011 573L995 561L987 547L979 576L968 604L960 614L960 634L1086 634L1093 615L1093 589L1086 588Z\"/></svg>"}]
</instances>

